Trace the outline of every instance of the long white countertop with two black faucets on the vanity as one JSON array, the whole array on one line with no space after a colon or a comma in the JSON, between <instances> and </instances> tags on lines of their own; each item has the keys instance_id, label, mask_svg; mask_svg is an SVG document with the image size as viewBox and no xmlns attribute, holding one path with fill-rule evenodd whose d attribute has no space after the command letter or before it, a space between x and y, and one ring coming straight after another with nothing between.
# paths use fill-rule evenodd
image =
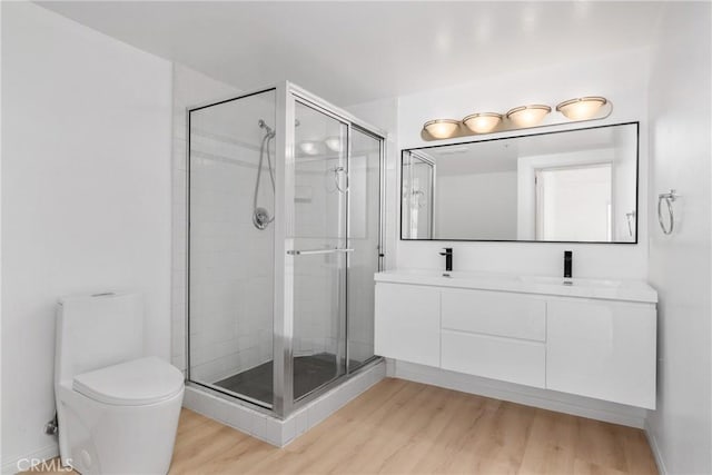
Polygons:
<instances>
[{"instance_id":1,"label":"long white countertop with two black faucets on the vanity","mask_svg":"<svg viewBox=\"0 0 712 475\"><path fill-rule=\"evenodd\" d=\"M449 277L445 277L448 274ZM567 279L563 277L518 276L514 274L436 271L421 269L386 270L375 274L377 283L545 294L563 297L657 303L657 293L644 280Z\"/></svg>"}]
</instances>

